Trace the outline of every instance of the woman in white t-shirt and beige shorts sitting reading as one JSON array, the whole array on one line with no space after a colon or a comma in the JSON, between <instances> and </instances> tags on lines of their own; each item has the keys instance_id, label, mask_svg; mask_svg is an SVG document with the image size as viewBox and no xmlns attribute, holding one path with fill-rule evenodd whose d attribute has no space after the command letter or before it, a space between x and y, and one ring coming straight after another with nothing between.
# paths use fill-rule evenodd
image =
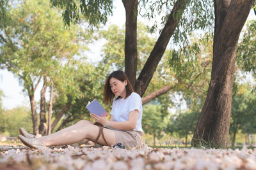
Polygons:
<instances>
[{"instance_id":1,"label":"woman in white t-shirt and beige shorts sitting reading","mask_svg":"<svg viewBox=\"0 0 256 170\"><path fill-rule=\"evenodd\" d=\"M48 136L36 138L20 128L19 139L24 145L42 149L47 146L70 145L89 139L100 145L122 143L125 148L140 146L142 118L141 97L133 92L132 85L123 71L114 71L104 86L104 102L111 103L111 119L90 113L96 124L80 120L76 124ZM100 127L99 125L104 125Z\"/></svg>"}]
</instances>

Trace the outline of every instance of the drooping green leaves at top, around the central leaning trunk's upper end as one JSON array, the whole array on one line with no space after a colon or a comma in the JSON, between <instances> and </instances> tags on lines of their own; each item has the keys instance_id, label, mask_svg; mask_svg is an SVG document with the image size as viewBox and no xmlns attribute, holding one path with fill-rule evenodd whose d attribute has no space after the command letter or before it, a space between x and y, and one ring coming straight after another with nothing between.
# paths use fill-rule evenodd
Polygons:
<instances>
[{"instance_id":1,"label":"drooping green leaves at top, around the central leaning trunk's upper end","mask_svg":"<svg viewBox=\"0 0 256 170\"><path fill-rule=\"evenodd\" d=\"M168 1L168 0L143 0L139 2L139 13L150 20L152 25L150 31L155 32L157 29L161 31L163 25L166 23L168 15L174 4L185 4L185 10L182 9L175 11L173 17L177 18L179 25L175 29L172 37L175 45L188 45L189 36L193 36L193 32L207 31L213 32L214 25L214 8L213 1ZM161 28L157 21L161 16Z\"/></svg>"}]
</instances>

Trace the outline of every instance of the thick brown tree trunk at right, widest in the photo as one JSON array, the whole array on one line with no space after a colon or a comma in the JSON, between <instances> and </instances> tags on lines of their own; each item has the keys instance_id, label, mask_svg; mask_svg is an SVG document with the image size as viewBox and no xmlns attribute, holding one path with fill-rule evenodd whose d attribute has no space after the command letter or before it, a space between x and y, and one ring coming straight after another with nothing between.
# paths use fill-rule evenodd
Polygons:
<instances>
[{"instance_id":1,"label":"thick brown tree trunk at right, widest in the photo","mask_svg":"<svg viewBox=\"0 0 256 170\"><path fill-rule=\"evenodd\" d=\"M227 146L237 41L255 0L215 0L212 73L192 143Z\"/></svg>"}]
</instances>

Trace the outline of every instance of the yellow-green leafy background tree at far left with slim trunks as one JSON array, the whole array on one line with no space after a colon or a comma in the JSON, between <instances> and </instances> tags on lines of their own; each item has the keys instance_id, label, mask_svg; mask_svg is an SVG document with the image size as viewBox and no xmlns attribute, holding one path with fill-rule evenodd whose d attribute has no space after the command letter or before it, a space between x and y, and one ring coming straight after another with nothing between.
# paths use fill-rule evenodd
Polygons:
<instances>
[{"instance_id":1,"label":"yellow-green leafy background tree at far left with slim trunks","mask_svg":"<svg viewBox=\"0 0 256 170\"><path fill-rule=\"evenodd\" d=\"M73 81L77 72L74 55L79 46L83 47L78 42L82 39L85 43L88 34L76 25L65 29L60 13L47 1L19 3L8 11L8 16L13 22L1 30L1 67L15 74L28 92L35 134L38 134L35 91L43 81L39 127L40 133L45 134L46 89L54 83L55 92L60 92L66 101L64 111L78 97L79 87ZM67 100L68 95L71 101Z\"/></svg>"}]
</instances>

